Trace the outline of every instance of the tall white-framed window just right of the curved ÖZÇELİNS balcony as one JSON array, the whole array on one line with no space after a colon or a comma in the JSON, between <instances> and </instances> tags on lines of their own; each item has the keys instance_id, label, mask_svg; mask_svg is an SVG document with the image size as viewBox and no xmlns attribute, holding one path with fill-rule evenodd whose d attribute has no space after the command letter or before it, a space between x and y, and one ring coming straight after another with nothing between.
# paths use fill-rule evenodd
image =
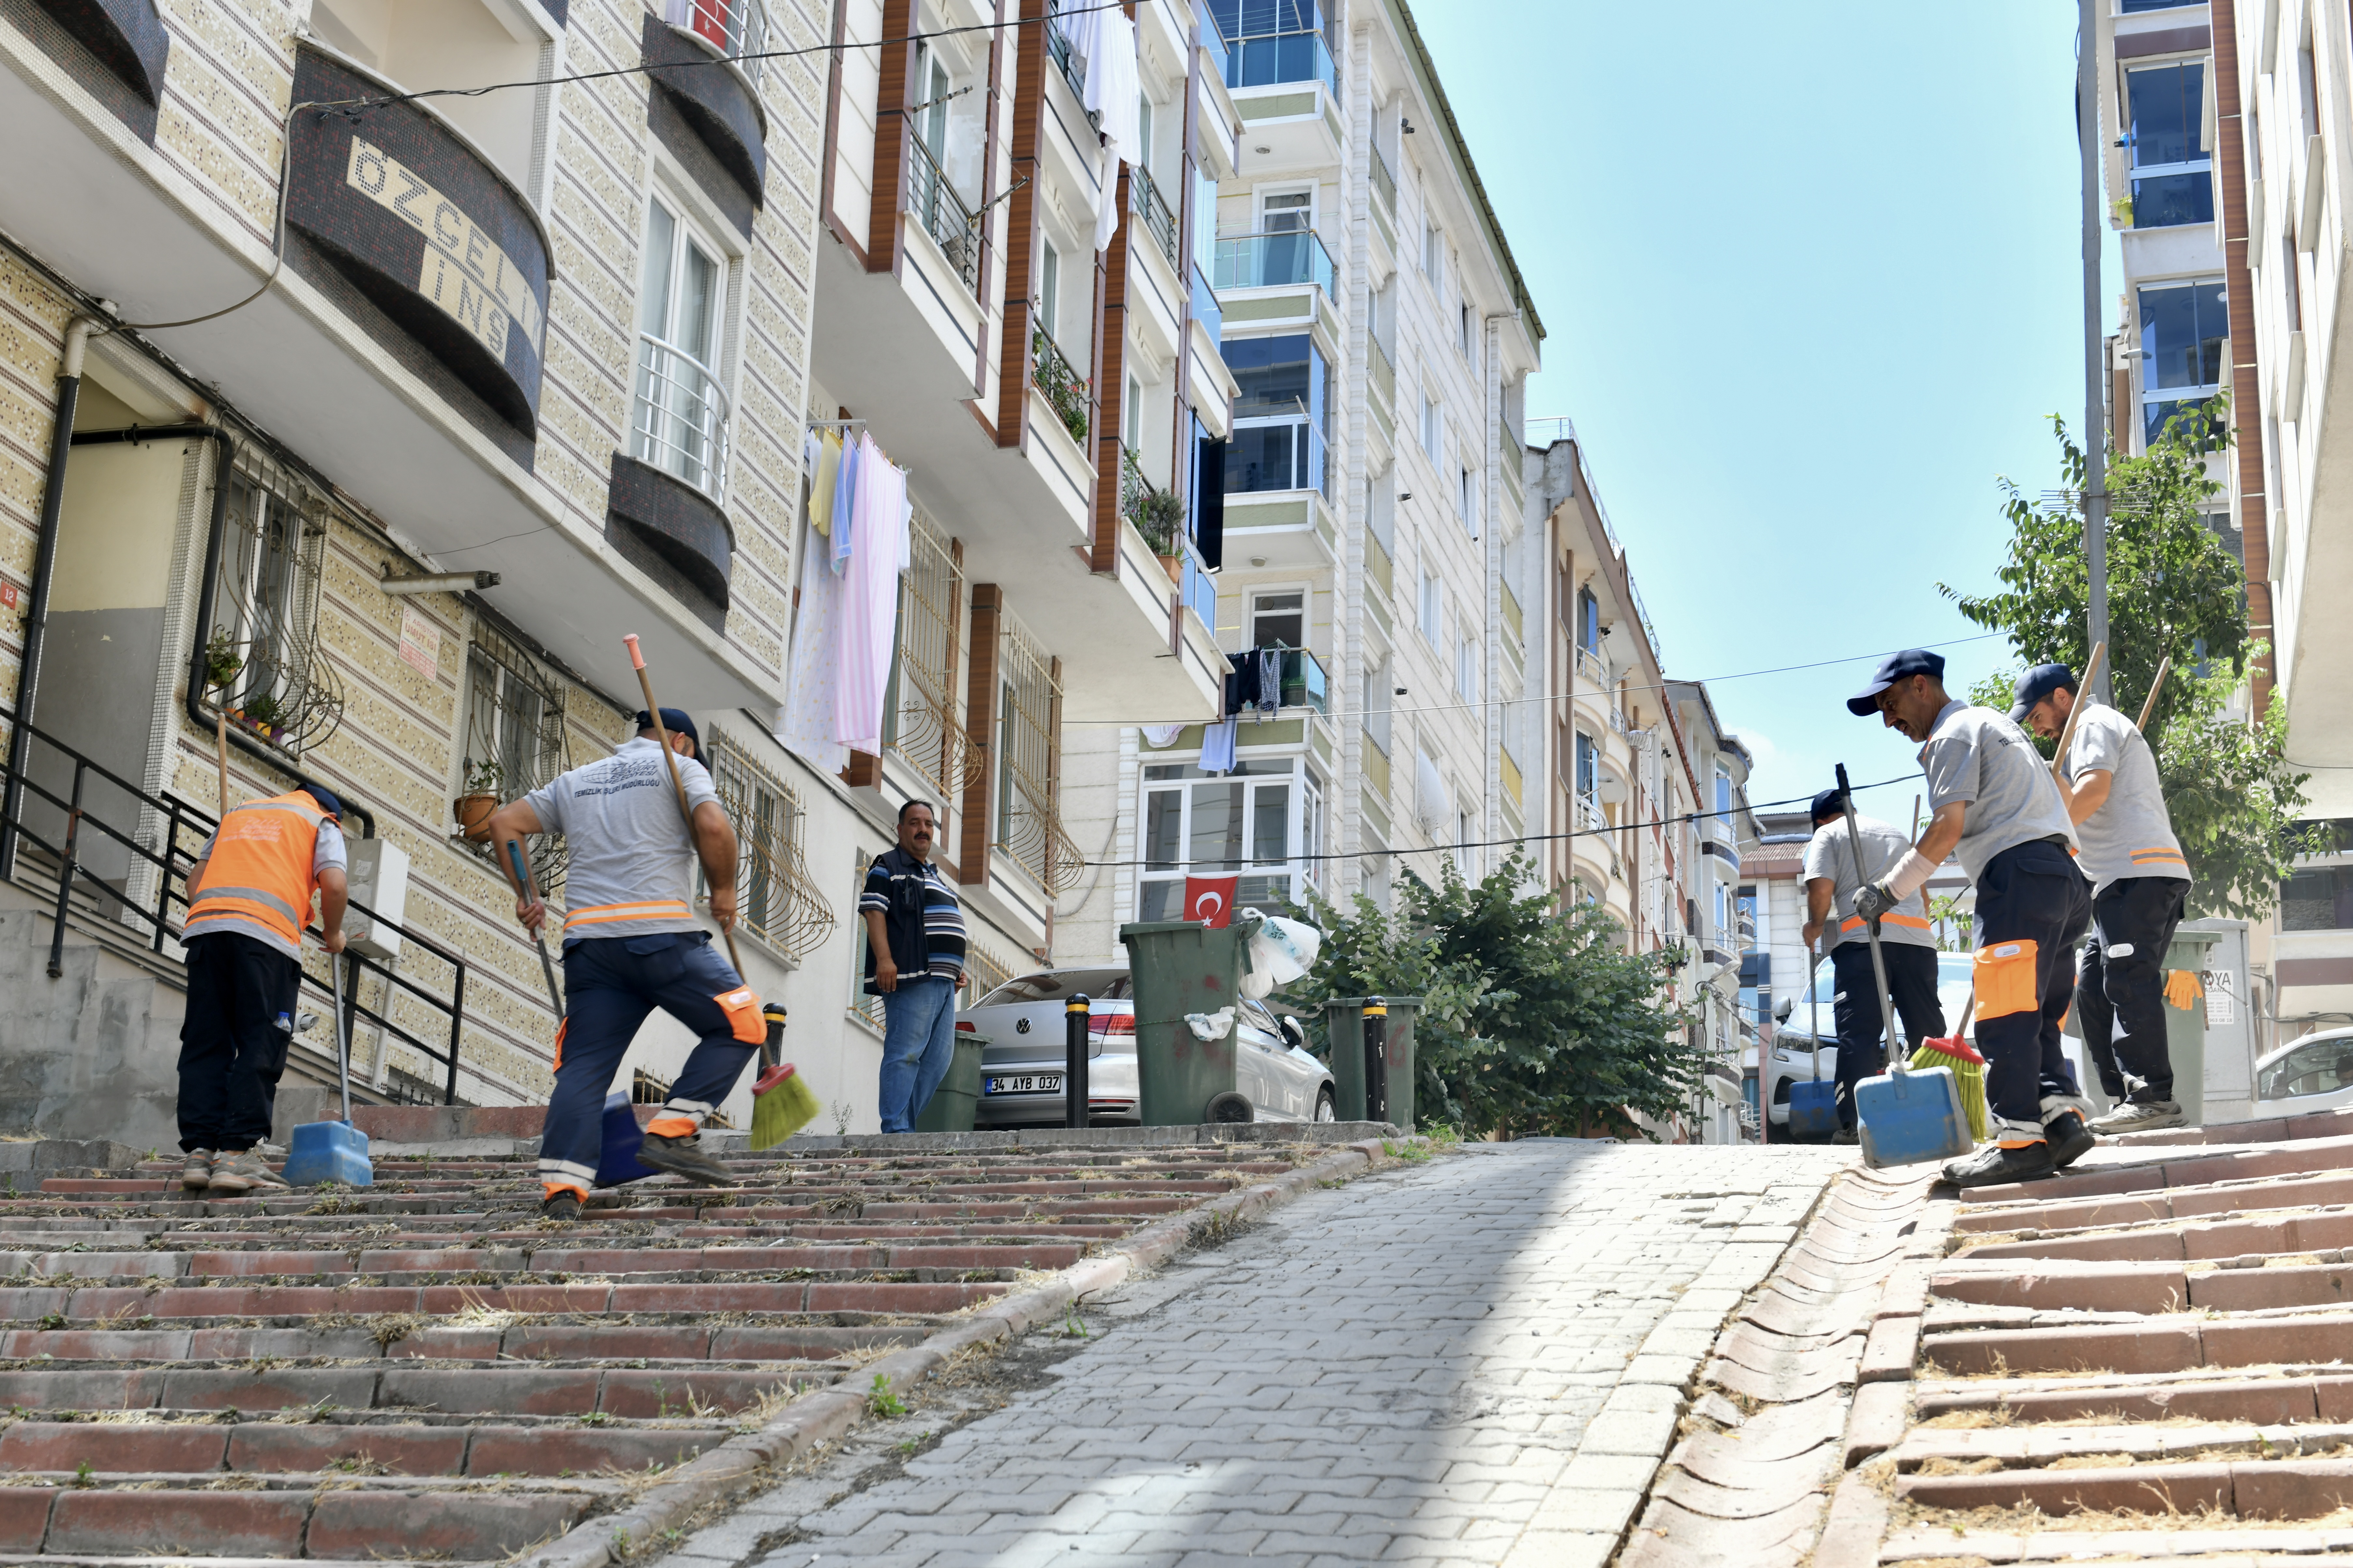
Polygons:
<instances>
[{"instance_id":1,"label":"tall white-framed window just right of the curved \u00d6Z\u00c7EL\u0130NS balcony","mask_svg":"<svg viewBox=\"0 0 2353 1568\"><path fill-rule=\"evenodd\" d=\"M659 195L647 205L628 456L713 498L727 487L727 393L718 376L727 263Z\"/></svg>"}]
</instances>

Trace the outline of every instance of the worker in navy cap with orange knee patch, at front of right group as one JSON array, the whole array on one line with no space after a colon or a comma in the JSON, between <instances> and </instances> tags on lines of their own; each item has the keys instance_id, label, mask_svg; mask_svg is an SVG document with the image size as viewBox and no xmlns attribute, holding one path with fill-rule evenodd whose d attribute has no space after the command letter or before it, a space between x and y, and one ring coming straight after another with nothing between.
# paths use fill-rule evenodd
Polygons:
<instances>
[{"instance_id":1,"label":"worker in navy cap with orange knee patch, at front of right group","mask_svg":"<svg viewBox=\"0 0 2353 1568\"><path fill-rule=\"evenodd\" d=\"M1944 658L1906 649L1847 698L1920 741L1929 818L1894 870L1854 896L1880 919L1927 884L1951 853L1977 884L1977 1048L1986 1058L1993 1143L1946 1161L1958 1187L2033 1180L2080 1159L2097 1140L2092 1110L2059 1051L2059 1020L2075 992L2075 940L2092 898L2075 870L2075 825L2049 766L2009 715L1944 689Z\"/></svg>"}]
</instances>

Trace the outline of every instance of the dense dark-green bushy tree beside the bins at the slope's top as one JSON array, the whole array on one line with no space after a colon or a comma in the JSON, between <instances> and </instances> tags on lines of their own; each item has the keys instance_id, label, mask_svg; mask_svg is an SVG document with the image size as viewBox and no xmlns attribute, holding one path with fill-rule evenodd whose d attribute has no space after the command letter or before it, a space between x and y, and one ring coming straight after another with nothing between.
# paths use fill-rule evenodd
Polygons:
<instances>
[{"instance_id":1,"label":"dense dark-green bushy tree beside the bins at the slope's top","mask_svg":"<svg viewBox=\"0 0 2353 1568\"><path fill-rule=\"evenodd\" d=\"M1525 893L1513 856L1480 882L1454 865L1440 886L1407 879L1400 910L1358 896L1318 905L1315 973L1287 997L1320 1018L1327 997L1424 997L1414 1023L1424 1121L1466 1135L1626 1131L1626 1112L1689 1112L1708 1053L1664 1001L1673 952L1626 952L1593 903Z\"/></svg>"}]
</instances>

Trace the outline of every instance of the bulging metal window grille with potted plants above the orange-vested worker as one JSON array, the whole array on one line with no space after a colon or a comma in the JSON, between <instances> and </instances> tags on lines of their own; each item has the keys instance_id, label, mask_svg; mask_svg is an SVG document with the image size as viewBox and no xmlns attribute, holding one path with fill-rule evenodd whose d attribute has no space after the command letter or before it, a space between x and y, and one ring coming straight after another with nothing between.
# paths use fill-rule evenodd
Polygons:
<instances>
[{"instance_id":1,"label":"bulging metal window grille with potted plants above the orange-vested worker","mask_svg":"<svg viewBox=\"0 0 2353 1568\"><path fill-rule=\"evenodd\" d=\"M318 642L329 503L249 447L228 475L228 536L205 628L209 691L228 722L301 755L344 724L344 686Z\"/></svg>"}]
</instances>

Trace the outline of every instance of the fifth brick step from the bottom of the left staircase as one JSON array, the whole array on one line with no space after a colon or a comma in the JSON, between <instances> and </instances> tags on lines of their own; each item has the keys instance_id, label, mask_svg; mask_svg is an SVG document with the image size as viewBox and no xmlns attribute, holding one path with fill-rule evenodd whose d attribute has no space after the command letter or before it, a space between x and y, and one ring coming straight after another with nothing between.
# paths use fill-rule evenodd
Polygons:
<instances>
[{"instance_id":1,"label":"fifth brick step from the bottom of the left staircase","mask_svg":"<svg viewBox=\"0 0 2353 1568\"><path fill-rule=\"evenodd\" d=\"M960 1312L1005 1295L1005 1281L736 1281L565 1286L136 1286L0 1288L0 1321L21 1326L111 1319L249 1319L315 1312ZM49 1324L47 1319L59 1319Z\"/></svg>"}]
</instances>

